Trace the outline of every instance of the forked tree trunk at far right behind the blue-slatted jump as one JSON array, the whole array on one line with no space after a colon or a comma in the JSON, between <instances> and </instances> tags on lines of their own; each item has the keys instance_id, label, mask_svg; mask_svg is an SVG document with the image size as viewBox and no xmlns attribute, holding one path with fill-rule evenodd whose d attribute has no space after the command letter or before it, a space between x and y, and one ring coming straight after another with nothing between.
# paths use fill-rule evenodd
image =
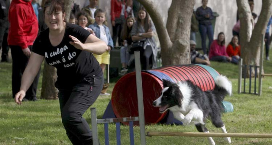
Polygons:
<instances>
[{"instance_id":1,"label":"forked tree trunk at far right behind the blue-slatted jump","mask_svg":"<svg viewBox=\"0 0 272 145\"><path fill-rule=\"evenodd\" d=\"M261 14L253 31L251 30L252 15L248 0L237 0L237 6L241 10L239 11L239 18L241 23L240 43L243 64L259 66L261 41L263 41L261 36L264 36L268 20L272 14L272 0L262 1Z\"/></svg>"}]
</instances>

